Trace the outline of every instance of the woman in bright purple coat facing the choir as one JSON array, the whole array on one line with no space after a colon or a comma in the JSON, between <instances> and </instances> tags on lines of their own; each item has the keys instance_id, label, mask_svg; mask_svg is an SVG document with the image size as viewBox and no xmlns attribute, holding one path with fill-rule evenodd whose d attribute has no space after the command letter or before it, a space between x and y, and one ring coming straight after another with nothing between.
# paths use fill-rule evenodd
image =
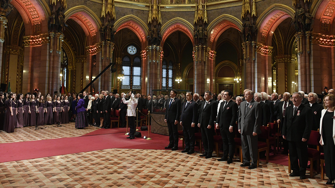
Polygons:
<instances>
[{"instance_id":1,"label":"woman in bright purple coat facing the choir","mask_svg":"<svg viewBox=\"0 0 335 188\"><path fill-rule=\"evenodd\" d=\"M85 102L84 102L84 96L83 94L78 94L78 103L75 107L77 111L77 117L76 117L76 128L77 129L83 129L84 127L88 127L87 122L87 114L85 110Z\"/></svg>"}]
</instances>

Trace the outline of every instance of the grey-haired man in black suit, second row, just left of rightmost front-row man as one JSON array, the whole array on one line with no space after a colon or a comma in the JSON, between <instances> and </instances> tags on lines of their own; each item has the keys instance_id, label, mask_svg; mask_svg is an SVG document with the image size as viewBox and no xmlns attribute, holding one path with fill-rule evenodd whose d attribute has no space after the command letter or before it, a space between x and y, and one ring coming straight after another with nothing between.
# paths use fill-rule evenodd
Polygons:
<instances>
[{"instance_id":1,"label":"grey-haired man in black suit, second row, just left of rightmost front-row man","mask_svg":"<svg viewBox=\"0 0 335 188\"><path fill-rule=\"evenodd\" d=\"M279 130L281 131L283 127L283 122L285 120L285 111L287 107L293 105L292 101L289 100L291 97L290 93L285 92L282 95L282 97L283 97L283 101L280 101L277 106L277 123L279 126ZM288 142L285 139L283 140L283 147L284 147L284 151L281 154L287 155L288 154Z\"/></svg>"}]
</instances>

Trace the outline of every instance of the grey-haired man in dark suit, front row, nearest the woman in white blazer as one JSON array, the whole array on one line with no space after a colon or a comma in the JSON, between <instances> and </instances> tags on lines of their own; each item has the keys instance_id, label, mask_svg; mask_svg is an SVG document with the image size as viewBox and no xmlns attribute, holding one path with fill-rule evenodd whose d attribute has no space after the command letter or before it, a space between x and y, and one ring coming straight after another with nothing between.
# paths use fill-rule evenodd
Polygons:
<instances>
[{"instance_id":1,"label":"grey-haired man in dark suit, front row, nearest the woman in white blazer","mask_svg":"<svg viewBox=\"0 0 335 188\"><path fill-rule=\"evenodd\" d=\"M306 179L307 140L310 138L313 124L312 109L302 104L303 98L301 93L293 93L293 105L286 108L282 132L283 138L288 141L290 151L293 172L289 176L300 176L300 179Z\"/></svg>"}]
</instances>

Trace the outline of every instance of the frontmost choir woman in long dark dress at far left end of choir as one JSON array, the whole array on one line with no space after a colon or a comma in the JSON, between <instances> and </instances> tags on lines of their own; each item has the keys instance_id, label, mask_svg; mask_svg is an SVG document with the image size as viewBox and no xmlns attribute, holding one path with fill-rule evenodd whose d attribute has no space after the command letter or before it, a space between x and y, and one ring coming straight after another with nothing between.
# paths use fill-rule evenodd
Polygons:
<instances>
[{"instance_id":1,"label":"frontmost choir woman in long dark dress at far left end of choir","mask_svg":"<svg viewBox=\"0 0 335 188\"><path fill-rule=\"evenodd\" d=\"M7 100L7 114L6 114L6 124L3 127L3 130L10 133L14 132L14 127L16 126L16 103L15 101L16 94L10 93Z\"/></svg>"}]
</instances>

